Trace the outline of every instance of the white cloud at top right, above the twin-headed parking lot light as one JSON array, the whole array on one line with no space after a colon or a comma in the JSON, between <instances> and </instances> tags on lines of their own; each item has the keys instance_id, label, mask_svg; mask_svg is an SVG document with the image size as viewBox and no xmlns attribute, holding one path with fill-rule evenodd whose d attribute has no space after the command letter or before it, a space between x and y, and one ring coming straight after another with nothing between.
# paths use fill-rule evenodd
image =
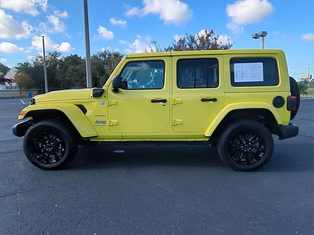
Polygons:
<instances>
[{"instance_id":1,"label":"white cloud at top right, above the twin-headed parking lot light","mask_svg":"<svg viewBox=\"0 0 314 235\"><path fill-rule=\"evenodd\" d=\"M268 0L238 0L226 7L231 22L227 27L233 32L241 32L241 25L260 22L274 11Z\"/></svg>"}]
</instances>

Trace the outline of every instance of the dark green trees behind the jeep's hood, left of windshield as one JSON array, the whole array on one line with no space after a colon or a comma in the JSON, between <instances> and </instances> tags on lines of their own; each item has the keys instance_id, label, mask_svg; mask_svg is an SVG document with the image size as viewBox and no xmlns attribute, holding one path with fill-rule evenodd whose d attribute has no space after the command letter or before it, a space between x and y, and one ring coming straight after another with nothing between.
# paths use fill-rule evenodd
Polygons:
<instances>
[{"instance_id":1,"label":"dark green trees behind the jeep's hood, left of windshield","mask_svg":"<svg viewBox=\"0 0 314 235\"><path fill-rule=\"evenodd\" d=\"M120 52L108 50L92 55L91 67L94 87L101 87L105 84L122 57L123 54ZM60 52L49 51L46 56L46 65L49 91L86 87L85 58L77 54L62 56ZM36 56L31 62L19 63L18 66L20 67L19 74L24 74L31 80L31 87L29 88L44 90L44 61L41 55ZM24 86L22 81L20 84Z\"/></svg>"}]
</instances>

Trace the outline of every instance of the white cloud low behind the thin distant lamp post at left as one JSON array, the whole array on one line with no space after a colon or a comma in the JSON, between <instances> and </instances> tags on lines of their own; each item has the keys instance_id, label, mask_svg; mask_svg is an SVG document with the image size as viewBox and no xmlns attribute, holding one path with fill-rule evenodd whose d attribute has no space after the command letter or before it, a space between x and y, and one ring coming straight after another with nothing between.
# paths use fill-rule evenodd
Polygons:
<instances>
[{"instance_id":1,"label":"white cloud low behind the thin distant lamp post at left","mask_svg":"<svg viewBox=\"0 0 314 235\"><path fill-rule=\"evenodd\" d=\"M61 42L60 44L54 43L52 39L44 34L45 36L45 49L46 51L59 51L59 52L70 52L74 50L71 44L68 42ZM41 36L33 36L31 41L31 48L41 52L43 50L43 39Z\"/></svg>"}]
</instances>

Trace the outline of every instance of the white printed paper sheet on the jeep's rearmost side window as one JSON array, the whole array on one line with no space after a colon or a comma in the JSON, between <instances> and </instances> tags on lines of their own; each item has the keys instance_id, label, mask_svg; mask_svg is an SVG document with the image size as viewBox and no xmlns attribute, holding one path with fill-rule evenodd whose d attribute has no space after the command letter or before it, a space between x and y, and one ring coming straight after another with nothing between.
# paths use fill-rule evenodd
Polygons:
<instances>
[{"instance_id":1,"label":"white printed paper sheet on the jeep's rearmost side window","mask_svg":"<svg viewBox=\"0 0 314 235\"><path fill-rule=\"evenodd\" d=\"M264 81L263 63L235 63L235 82Z\"/></svg>"}]
</instances>

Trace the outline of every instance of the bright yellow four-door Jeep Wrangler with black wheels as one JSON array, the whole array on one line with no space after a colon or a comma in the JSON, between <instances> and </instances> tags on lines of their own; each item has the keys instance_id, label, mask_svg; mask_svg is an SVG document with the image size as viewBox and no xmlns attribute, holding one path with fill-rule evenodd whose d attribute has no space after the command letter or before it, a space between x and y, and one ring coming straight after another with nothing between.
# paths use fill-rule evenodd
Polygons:
<instances>
[{"instance_id":1,"label":"bright yellow four-door Jeep Wrangler with black wheels","mask_svg":"<svg viewBox=\"0 0 314 235\"><path fill-rule=\"evenodd\" d=\"M253 171L272 156L272 134L290 123L300 94L280 50L136 53L103 88L53 91L31 99L13 133L35 166L60 168L86 141L217 145L224 163Z\"/></svg>"}]
</instances>

